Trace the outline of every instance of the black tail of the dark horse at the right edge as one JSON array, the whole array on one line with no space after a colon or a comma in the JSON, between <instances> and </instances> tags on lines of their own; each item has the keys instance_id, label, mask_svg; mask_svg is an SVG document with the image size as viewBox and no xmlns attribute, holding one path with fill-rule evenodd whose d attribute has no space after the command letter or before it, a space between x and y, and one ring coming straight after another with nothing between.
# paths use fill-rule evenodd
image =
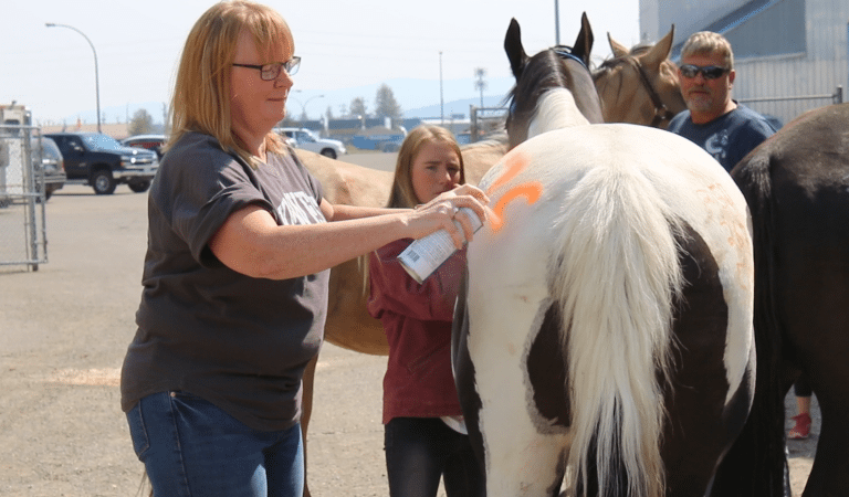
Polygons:
<instances>
[{"instance_id":1,"label":"black tail of the dark horse at the right edge","mask_svg":"<svg viewBox=\"0 0 849 497\"><path fill-rule=\"evenodd\" d=\"M784 330L773 300L775 261L774 192L767 152L748 157L732 171L752 215L755 262L754 329L757 355L755 395L743 432L717 468L716 496L774 497L786 488L784 395L789 388L782 367Z\"/></svg>"}]
</instances>

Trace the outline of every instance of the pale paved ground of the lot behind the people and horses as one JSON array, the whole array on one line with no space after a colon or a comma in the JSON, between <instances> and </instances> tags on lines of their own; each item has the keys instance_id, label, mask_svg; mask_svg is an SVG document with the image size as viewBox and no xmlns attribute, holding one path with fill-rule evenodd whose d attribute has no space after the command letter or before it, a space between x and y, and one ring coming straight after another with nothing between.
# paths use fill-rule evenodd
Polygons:
<instances>
[{"instance_id":1,"label":"pale paved ground of the lot behind the people and horses","mask_svg":"<svg viewBox=\"0 0 849 497\"><path fill-rule=\"evenodd\" d=\"M395 156L346 159L391 169ZM49 262L38 272L0 266L0 496L139 494L143 468L117 381L140 293L145 202L146 194L123 186L107 197L66 187L46 208ZM0 209L0 216L9 212ZM380 357L329 345L322 351L308 446L314 496L388 495L385 367ZM790 445L796 495L815 423L811 440Z\"/></svg>"}]
</instances>

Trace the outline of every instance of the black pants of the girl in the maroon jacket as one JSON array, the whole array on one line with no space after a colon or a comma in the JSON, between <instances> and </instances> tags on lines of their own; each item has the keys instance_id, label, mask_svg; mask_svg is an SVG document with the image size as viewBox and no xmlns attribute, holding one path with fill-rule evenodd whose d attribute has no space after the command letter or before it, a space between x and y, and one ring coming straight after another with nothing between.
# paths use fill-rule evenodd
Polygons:
<instances>
[{"instance_id":1,"label":"black pants of the girl in the maroon jacket","mask_svg":"<svg viewBox=\"0 0 849 497\"><path fill-rule=\"evenodd\" d=\"M390 497L436 497L440 477L448 497L485 495L469 436L439 417L394 417L384 436Z\"/></svg>"}]
</instances>

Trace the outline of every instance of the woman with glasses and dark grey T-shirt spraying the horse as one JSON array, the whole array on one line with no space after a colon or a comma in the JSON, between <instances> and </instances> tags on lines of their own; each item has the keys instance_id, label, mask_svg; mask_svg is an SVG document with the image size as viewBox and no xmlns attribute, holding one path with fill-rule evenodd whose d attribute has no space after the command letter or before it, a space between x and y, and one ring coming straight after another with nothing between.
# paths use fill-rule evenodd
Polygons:
<instances>
[{"instance_id":1,"label":"woman with glasses and dark grey T-shirt spraying the horse","mask_svg":"<svg viewBox=\"0 0 849 497\"><path fill-rule=\"evenodd\" d=\"M172 135L148 201L122 408L157 496L303 491L301 381L322 343L327 269L483 215L480 190L418 210L332 205L271 130L298 67L274 10L212 6L186 42Z\"/></svg>"}]
</instances>

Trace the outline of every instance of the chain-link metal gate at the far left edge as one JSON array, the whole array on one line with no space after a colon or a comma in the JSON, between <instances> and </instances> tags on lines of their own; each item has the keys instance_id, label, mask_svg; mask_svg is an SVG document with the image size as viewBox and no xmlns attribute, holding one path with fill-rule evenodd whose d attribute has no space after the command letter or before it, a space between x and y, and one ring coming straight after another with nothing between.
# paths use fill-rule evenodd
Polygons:
<instances>
[{"instance_id":1,"label":"chain-link metal gate at the far left edge","mask_svg":"<svg viewBox=\"0 0 849 497\"><path fill-rule=\"evenodd\" d=\"M0 125L0 265L38 271L48 262L39 140L38 127Z\"/></svg>"}]
</instances>

